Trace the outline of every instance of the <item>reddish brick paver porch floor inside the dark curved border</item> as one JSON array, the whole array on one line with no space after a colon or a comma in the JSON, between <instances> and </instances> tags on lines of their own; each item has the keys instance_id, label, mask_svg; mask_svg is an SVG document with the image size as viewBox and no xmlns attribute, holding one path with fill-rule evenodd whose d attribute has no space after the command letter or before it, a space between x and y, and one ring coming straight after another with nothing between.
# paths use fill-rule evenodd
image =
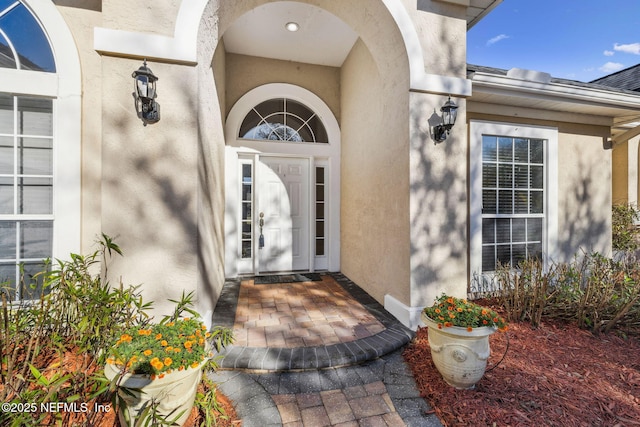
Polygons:
<instances>
[{"instance_id":1,"label":"reddish brick paver porch floor inside the dark curved border","mask_svg":"<svg viewBox=\"0 0 640 427\"><path fill-rule=\"evenodd\" d=\"M312 347L350 342L385 328L330 276L321 282L240 284L236 346Z\"/></svg>"}]
</instances>

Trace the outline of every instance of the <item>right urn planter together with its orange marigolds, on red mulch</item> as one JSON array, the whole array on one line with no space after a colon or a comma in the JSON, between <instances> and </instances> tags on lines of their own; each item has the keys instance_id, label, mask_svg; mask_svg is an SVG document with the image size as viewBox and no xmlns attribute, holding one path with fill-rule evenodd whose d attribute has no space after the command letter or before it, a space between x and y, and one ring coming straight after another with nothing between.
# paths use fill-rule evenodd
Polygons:
<instances>
[{"instance_id":1,"label":"right urn planter together with its orange marigolds, on red mulch","mask_svg":"<svg viewBox=\"0 0 640 427\"><path fill-rule=\"evenodd\" d=\"M459 389L474 388L491 354L489 336L506 331L507 322L494 310L443 294L422 312L429 328L433 363L442 378Z\"/></svg>"}]
</instances>

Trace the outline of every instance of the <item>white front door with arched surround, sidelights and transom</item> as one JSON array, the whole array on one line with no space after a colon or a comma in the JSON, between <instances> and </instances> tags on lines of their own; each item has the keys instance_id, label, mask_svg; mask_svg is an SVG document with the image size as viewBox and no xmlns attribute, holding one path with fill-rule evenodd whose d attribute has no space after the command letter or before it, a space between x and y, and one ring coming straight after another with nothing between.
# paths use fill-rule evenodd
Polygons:
<instances>
[{"instance_id":1,"label":"white front door with arched surround, sidelights and transom","mask_svg":"<svg viewBox=\"0 0 640 427\"><path fill-rule=\"evenodd\" d=\"M256 115L259 126L282 128L286 114L265 108L286 108L287 100L305 111L302 121L289 122L296 123L287 125L289 133L303 133L315 119L312 127L322 129L317 133L326 134L326 141L246 132ZM225 275L338 271L340 130L329 107L299 86L260 86L233 106L225 137Z\"/></svg>"}]
</instances>

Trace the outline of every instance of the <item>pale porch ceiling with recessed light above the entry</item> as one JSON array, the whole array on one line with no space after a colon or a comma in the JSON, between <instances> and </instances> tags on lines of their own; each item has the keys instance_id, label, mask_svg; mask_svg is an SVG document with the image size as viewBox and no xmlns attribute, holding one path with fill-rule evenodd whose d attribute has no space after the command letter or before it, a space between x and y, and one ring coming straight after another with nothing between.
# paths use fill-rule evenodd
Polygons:
<instances>
[{"instance_id":1,"label":"pale porch ceiling with recessed light above the entry","mask_svg":"<svg viewBox=\"0 0 640 427\"><path fill-rule=\"evenodd\" d=\"M295 22L299 30L285 25ZM227 52L339 67L358 35L335 15L309 4L279 1L238 18L223 39Z\"/></svg>"}]
</instances>

